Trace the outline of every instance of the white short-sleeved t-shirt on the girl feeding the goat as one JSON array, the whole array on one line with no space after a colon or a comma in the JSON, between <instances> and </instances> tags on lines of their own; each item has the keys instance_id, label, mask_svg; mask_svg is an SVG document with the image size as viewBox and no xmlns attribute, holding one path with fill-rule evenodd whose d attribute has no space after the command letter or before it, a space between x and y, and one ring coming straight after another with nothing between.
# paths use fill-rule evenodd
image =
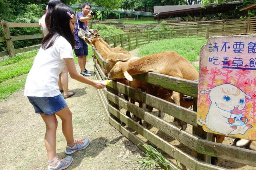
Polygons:
<instances>
[{"instance_id":1,"label":"white short-sleeved t-shirt on the girl feeding the goat","mask_svg":"<svg viewBox=\"0 0 256 170\"><path fill-rule=\"evenodd\" d=\"M65 66L65 58L72 58L70 43L62 36L58 37L52 47L39 49L33 66L28 73L24 96L54 97L60 94L58 79Z\"/></svg>"}]
</instances>

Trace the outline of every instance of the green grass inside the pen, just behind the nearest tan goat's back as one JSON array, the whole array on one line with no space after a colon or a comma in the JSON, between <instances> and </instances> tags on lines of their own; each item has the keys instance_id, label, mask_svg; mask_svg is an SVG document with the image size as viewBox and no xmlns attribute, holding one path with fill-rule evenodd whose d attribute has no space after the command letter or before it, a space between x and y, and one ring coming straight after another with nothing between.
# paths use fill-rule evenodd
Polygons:
<instances>
[{"instance_id":1,"label":"green grass inside the pen, just behind the nearest tan goat's back","mask_svg":"<svg viewBox=\"0 0 256 170\"><path fill-rule=\"evenodd\" d=\"M175 51L176 53L190 61L190 63L192 63L196 67L196 69L199 70L199 66L194 64L193 61L199 61L200 49L204 44L206 44L205 39L165 39L140 46L138 55L139 57L144 57L146 55L163 51Z\"/></svg>"}]
</instances>

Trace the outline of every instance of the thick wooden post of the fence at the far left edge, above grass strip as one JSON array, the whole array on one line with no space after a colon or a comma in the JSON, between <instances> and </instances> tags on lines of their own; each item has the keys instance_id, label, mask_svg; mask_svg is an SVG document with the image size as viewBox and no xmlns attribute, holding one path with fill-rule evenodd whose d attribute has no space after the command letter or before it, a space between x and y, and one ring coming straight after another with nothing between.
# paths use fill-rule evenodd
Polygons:
<instances>
[{"instance_id":1,"label":"thick wooden post of the fence at the far left edge, above grass strip","mask_svg":"<svg viewBox=\"0 0 256 170\"><path fill-rule=\"evenodd\" d=\"M13 46L13 43L12 43L12 40L11 40L11 35L10 35L10 29L9 29L8 22L2 20L1 24L2 24L2 28L3 28L4 39L5 39L5 42L6 42L9 57L15 57L15 50L14 50L14 46Z\"/></svg>"}]
</instances>

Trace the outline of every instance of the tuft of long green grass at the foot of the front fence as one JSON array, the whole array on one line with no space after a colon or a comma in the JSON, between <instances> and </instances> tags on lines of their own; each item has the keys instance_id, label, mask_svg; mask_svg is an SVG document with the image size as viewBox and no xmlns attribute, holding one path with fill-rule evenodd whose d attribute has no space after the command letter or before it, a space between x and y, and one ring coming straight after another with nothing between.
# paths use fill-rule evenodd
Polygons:
<instances>
[{"instance_id":1,"label":"tuft of long green grass at the foot of the front fence","mask_svg":"<svg viewBox=\"0 0 256 170\"><path fill-rule=\"evenodd\" d=\"M142 145L142 144L139 144ZM141 167L144 170L146 167L150 170L152 167L159 167L161 166L164 170L171 170L172 167L168 162L166 162L164 156L161 152L158 152L154 147L151 145L143 144L145 148L145 154L143 158L139 159L138 161L141 163Z\"/></svg>"}]
</instances>

